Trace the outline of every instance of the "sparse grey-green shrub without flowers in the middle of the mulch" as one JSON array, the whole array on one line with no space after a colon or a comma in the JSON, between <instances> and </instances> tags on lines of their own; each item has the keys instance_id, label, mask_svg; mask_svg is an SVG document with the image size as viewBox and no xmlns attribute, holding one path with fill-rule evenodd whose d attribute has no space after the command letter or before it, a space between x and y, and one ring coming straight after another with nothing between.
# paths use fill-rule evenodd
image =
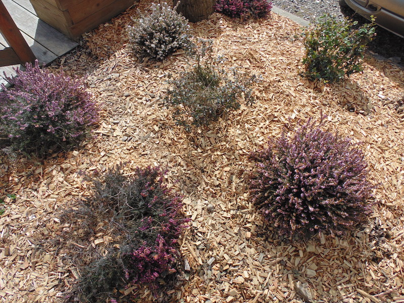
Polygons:
<instances>
[{"instance_id":1,"label":"sparse grey-green shrub without flowers in the middle of the mulch","mask_svg":"<svg viewBox=\"0 0 404 303\"><path fill-rule=\"evenodd\" d=\"M182 76L169 81L164 102L174 109L179 125L190 128L209 125L228 110L240 108L239 99L247 105L254 101L250 86L255 77L247 77L236 69L220 68L214 58L212 41L202 43L197 53L197 64Z\"/></svg>"}]
</instances>

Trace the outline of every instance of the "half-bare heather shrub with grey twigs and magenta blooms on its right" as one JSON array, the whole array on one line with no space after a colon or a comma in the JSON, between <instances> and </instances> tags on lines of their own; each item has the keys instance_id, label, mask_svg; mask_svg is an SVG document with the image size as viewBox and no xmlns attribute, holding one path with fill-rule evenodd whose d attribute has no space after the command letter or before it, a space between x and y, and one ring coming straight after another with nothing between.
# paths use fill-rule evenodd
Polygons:
<instances>
[{"instance_id":1,"label":"half-bare heather shrub with grey twigs and magenta blooms on its right","mask_svg":"<svg viewBox=\"0 0 404 303\"><path fill-rule=\"evenodd\" d=\"M177 271L177 242L188 222L181 215L181 197L167 188L158 168L137 168L132 176L118 168L90 180L94 195L79 211L63 216L71 224L68 236L86 247L89 238L103 231L113 243L106 256L85 266L71 299L101 303L128 285L157 290L159 279Z\"/></svg>"}]
</instances>

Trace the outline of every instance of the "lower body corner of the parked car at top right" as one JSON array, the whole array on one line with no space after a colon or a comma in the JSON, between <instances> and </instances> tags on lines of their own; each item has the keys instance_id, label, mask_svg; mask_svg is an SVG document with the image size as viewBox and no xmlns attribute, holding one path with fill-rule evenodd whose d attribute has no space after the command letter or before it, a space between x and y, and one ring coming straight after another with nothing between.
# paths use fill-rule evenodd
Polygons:
<instances>
[{"instance_id":1,"label":"lower body corner of the parked car at top right","mask_svg":"<svg viewBox=\"0 0 404 303\"><path fill-rule=\"evenodd\" d=\"M404 38L404 0L339 0L359 15Z\"/></svg>"}]
</instances>

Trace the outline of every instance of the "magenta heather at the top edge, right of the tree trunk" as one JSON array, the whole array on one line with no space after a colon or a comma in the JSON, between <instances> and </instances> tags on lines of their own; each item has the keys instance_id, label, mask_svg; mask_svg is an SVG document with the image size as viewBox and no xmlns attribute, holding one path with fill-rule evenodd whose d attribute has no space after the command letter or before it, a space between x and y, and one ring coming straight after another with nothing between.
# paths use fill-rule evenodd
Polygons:
<instances>
[{"instance_id":1,"label":"magenta heather at the top edge, right of the tree trunk","mask_svg":"<svg viewBox=\"0 0 404 303\"><path fill-rule=\"evenodd\" d=\"M264 18L271 12L268 0L218 0L216 11L233 18Z\"/></svg>"}]
</instances>

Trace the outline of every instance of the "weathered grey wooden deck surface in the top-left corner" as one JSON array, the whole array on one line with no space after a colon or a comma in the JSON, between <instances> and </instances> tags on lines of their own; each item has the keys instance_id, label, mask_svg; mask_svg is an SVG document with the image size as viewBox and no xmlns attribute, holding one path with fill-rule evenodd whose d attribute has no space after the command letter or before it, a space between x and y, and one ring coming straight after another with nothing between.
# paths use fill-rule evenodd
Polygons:
<instances>
[{"instance_id":1,"label":"weathered grey wooden deck surface in the top-left corner","mask_svg":"<svg viewBox=\"0 0 404 303\"><path fill-rule=\"evenodd\" d=\"M52 26L39 20L29 0L3 0L3 3L40 64L51 63L78 45ZM8 46L6 40L0 35L0 48ZM7 76L15 75L13 67L21 66L0 67L0 83L7 83L3 72Z\"/></svg>"}]
</instances>

